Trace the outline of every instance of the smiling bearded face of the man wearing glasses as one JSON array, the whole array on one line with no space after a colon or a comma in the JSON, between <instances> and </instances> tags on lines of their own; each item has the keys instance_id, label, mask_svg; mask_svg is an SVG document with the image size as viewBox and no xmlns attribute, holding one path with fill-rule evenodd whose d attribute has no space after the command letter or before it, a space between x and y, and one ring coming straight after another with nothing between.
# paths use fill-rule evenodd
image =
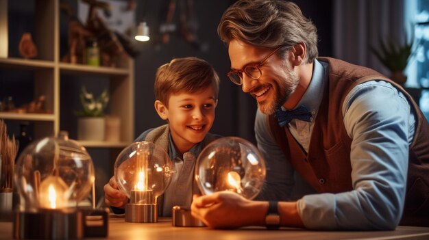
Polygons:
<instances>
[{"instance_id":1,"label":"smiling bearded face of the man wearing glasses","mask_svg":"<svg viewBox=\"0 0 429 240\"><path fill-rule=\"evenodd\" d=\"M247 64L258 64L273 50L232 40L228 48L231 68L242 70ZM299 78L291 69L287 57L280 59L274 54L260 66L262 75L259 79L252 79L243 72L243 92L256 98L262 113L274 114L278 107L288 101L299 83Z\"/></svg>"}]
</instances>

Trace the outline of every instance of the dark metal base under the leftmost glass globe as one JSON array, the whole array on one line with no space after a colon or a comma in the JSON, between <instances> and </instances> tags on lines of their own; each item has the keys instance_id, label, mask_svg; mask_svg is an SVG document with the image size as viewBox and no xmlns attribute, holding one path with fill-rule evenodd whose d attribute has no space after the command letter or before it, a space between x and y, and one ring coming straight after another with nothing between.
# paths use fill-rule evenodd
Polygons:
<instances>
[{"instance_id":1,"label":"dark metal base under the leftmost glass globe","mask_svg":"<svg viewBox=\"0 0 429 240\"><path fill-rule=\"evenodd\" d=\"M82 239L82 213L46 210L38 213L17 212L15 239Z\"/></svg>"}]
</instances>

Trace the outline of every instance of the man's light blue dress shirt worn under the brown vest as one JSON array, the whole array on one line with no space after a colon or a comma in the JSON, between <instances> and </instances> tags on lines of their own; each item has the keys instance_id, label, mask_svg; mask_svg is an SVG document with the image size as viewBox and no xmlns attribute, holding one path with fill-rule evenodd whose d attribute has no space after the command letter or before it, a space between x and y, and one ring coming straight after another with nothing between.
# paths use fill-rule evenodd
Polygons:
<instances>
[{"instance_id":1,"label":"man's light blue dress shirt worn under the brown vest","mask_svg":"<svg viewBox=\"0 0 429 240\"><path fill-rule=\"evenodd\" d=\"M315 61L310 85L297 104L310 109L313 119L292 120L287 126L307 152L328 72L327 62ZM394 229L404 208L413 108L390 83L368 81L347 94L339 111L352 138L353 190L317 194L284 157L267 129L267 116L258 110L256 141L268 168L259 199L297 200L298 213L310 229Z\"/></svg>"}]
</instances>

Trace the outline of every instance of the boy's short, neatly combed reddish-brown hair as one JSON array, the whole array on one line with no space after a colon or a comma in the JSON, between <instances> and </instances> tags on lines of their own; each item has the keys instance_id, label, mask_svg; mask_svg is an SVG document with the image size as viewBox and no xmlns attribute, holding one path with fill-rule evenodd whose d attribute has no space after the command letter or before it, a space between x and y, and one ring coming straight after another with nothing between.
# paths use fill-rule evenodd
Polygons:
<instances>
[{"instance_id":1,"label":"boy's short, neatly combed reddish-brown hair","mask_svg":"<svg viewBox=\"0 0 429 240\"><path fill-rule=\"evenodd\" d=\"M208 62L197 57L175 58L156 71L154 92L156 100L168 107L171 94L195 93L212 87L215 100L219 94L219 76Z\"/></svg>"}]
</instances>

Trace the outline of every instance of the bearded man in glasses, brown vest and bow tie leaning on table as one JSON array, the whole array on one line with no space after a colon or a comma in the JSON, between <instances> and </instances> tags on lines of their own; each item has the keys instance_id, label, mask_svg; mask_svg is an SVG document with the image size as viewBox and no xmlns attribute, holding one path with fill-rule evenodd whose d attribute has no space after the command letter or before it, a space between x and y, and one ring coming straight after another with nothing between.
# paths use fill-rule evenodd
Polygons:
<instances>
[{"instance_id":1,"label":"bearded man in glasses, brown vest and bow tie leaning on table","mask_svg":"<svg viewBox=\"0 0 429 240\"><path fill-rule=\"evenodd\" d=\"M429 125L400 85L317 58L315 25L295 3L237 1L218 33L228 77L258 102L256 140L269 168L260 197L271 201L219 192L194 198L195 217L215 228L429 226Z\"/></svg>"}]
</instances>

